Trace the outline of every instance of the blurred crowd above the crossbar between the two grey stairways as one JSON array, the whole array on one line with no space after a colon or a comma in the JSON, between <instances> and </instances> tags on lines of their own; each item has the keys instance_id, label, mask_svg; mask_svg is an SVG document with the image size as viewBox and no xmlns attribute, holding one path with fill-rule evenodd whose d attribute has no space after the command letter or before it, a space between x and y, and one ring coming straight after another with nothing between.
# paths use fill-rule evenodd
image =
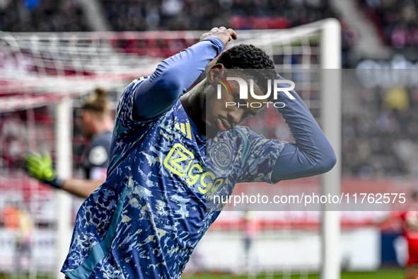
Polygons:
<instances>
[{"instance_id":1,"label":"blurred crowd above the crossbar between the two grey stairways","mask_svg":"<svg viewBox=\"0 0 418 279\"><path fill-rule=\"evenodd\" d=\"M327 0L103 0L113 30L289 28L336 17Z\"/></svg>"}]
</instances>

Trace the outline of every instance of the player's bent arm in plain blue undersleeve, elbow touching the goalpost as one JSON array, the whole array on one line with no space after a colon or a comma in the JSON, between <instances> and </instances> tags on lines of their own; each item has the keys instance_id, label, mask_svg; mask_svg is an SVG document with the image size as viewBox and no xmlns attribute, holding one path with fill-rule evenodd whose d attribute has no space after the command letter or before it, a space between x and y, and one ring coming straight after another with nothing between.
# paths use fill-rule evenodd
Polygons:
<instances>
[{"instance_id":1,"label":"player's bent arm in plain blue undersleeve, elbow touching the goalpost","mask_svg":"<svg viewBox=\"0 0 418 279\"><path fill-rule=\"evenodd\" d=\"M281 92L277 101L286 103L279 112L289 125L296 144L287 143L281 149L272 171L273 183L325 173L337 161L330 142L305 103L295 91L289 93L294 99Z\"/></svg>"}]
</instances>

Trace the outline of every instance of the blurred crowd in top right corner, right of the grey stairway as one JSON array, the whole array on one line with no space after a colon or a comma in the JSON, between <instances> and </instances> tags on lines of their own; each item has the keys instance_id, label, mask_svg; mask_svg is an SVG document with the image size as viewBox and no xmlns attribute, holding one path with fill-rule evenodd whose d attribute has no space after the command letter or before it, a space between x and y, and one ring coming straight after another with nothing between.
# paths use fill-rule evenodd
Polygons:
<instances>
[{"instance_id":1,"label":"blurred crowd in top right corner, right of the grey stairway","mask_svg":"<svg viewBox=\"0 0 418 279\"><path fill-rule=\"evenodd\" d=\"M359 0L383 39L394 47L418 46L418 1Z\"/></svg>"}]
</instances>

